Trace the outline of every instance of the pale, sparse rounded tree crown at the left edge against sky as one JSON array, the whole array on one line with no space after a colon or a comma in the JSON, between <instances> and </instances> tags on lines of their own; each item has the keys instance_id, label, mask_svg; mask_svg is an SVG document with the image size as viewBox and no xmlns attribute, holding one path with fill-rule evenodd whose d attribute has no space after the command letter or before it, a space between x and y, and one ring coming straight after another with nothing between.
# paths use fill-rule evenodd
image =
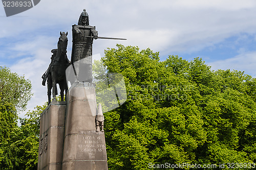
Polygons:
<instances>
[{"instance_id":1,"label":"pale, sparse rounded tree crown at the left edge against sky","mask_svg":"<svg viewBox=\"0 0 256 170\"><path fill-rule=\"evenodd\" d=\"M24 76L12 73L7 67L0 67L0 100L14 104L17 111L24 111L30 100L31 82Z\"/></svg>"}]
</instances>

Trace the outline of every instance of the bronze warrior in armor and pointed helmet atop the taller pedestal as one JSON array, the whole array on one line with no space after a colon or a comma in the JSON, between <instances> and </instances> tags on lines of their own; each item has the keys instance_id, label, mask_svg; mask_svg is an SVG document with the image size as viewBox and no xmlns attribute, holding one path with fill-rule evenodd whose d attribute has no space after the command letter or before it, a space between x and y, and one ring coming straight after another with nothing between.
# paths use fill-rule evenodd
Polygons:
<instances>
[{"instance_id":1,"label":"bronze warrior in armor and pointed helmet atop the taller pedestal","mask_svg":"<svg viewBox=\"0 0 256 170\"><path fill-rule=\"evenodd\" d=\"M92 44L97 39L98 31L89 26L89 15L84 9L78 25L72 26L73 47L71 63L73 65L76 81L92 82Z\"/></svg>"}]
</instances>

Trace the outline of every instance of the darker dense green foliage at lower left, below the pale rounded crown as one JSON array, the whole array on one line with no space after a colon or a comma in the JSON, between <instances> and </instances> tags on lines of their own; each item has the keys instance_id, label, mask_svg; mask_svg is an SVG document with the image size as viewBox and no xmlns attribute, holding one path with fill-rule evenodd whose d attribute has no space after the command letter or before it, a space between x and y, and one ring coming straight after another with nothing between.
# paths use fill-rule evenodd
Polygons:
<instances>
[{"instance_id":1,"label":"darker dense green foliage at lower left, below the pale rounded crown","mask_svg":"<svg viewBox=\"0 0 256 170\"><path fill-rule=\"evenodd\" d=\"M0 168L36 169L39 141L40 113L46 108L36 107L29 111L28 118L20 118L17 126L13 104L0 105Z\"/></svg>"}]
</instances>

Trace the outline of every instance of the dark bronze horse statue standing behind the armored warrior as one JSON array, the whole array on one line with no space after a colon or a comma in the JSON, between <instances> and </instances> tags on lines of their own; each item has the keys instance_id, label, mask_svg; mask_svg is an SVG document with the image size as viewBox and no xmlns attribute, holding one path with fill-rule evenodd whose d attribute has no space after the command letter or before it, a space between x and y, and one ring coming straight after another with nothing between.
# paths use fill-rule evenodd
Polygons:
<instances>
[{"instance_id":1,"label":"dark bronze horse statue standing behind the armored warrior","mask_svg":"<svg viewBox=\"0 0 256 170\"><path fill-rule=\"evenodd\" d=\"M51 63L49 68L42 75L42 85L45 86L47 80L47 89L48 89L48 104L51 102L51 90L53 93L53 101L56 101L57 95L57 83L59 84L60 97L61 101L64 101L64 91L67 95L68 84L66 80L66 69L70 65L70 61L67 57L67 46L68 46L68 32L60 32L60 37L58 41L58 49L53 49Z\"/></svg>"}]
</instances>

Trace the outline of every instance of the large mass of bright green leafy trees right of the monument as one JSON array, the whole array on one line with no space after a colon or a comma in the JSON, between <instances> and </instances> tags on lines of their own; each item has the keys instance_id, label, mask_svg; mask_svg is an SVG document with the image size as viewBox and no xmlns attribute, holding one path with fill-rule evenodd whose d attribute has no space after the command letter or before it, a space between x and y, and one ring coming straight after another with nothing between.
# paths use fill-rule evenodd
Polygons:
<instances>
[{"instance_id":1,"label":"large mass of bright green leafy trees right of the monument","mask_svg":"<svg viewBox=\"0 0 256 170\"><path fill-rule=\"evenodd\" d=\"M122 45L105 50L102 61L97 72L121 73L127 92L121 107L105 113L110 169L256 163L251 76L211 71L201 58L160 61L150 49Z\"/></svg>"}]
</instances>

